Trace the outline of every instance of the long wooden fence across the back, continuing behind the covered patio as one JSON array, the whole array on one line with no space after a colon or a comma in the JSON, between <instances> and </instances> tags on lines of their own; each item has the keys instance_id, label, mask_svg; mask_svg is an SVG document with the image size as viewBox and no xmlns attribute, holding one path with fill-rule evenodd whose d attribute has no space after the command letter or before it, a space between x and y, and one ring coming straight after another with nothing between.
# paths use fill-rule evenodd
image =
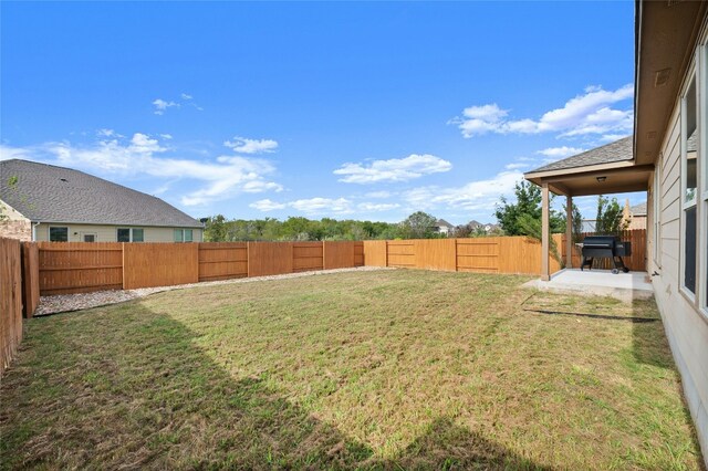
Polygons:
<instances>
[{"instance_id":1,"label":"long wooden fence across the back, continuing behind the covered patio","mask_svg":"<svg viewBox=\"0 0 708 471\"><path fill-rule=\"evenodd\" d=\"M565 260L565 237L553 234ZM646 230L626 231L632 270L645 270ZM25 243L24 304L39 294L131 290L348 266L541 273L541 243L525 237L364 242ZM573 266L581 263L573 247ZM561 269L550 257L551 273ZM603 265L596 265L603 268ZM29 279L29 281L28 281Z\"/></svg>"}]
</instances>

